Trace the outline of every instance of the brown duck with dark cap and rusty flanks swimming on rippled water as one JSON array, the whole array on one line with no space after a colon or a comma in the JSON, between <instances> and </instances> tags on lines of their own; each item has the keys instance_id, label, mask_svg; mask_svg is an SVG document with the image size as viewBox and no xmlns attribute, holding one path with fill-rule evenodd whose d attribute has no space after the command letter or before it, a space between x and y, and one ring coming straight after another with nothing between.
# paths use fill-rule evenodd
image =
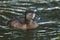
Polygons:
<instances>
[{"instance_id":1,"label":"brown duck with dark cap and rusty flanks swimming on rippled water","mask_svg":"<svg viewBox=\"0 0 60 40\"><path fill-rule=\"evenodd\" d=\"M33 21L33 15L35 13L32 10L26 10L25 17L19 17L8 21L8 25L22 30L35 29L38 27L37 22Z\"/></svg>"}]
</instances>

